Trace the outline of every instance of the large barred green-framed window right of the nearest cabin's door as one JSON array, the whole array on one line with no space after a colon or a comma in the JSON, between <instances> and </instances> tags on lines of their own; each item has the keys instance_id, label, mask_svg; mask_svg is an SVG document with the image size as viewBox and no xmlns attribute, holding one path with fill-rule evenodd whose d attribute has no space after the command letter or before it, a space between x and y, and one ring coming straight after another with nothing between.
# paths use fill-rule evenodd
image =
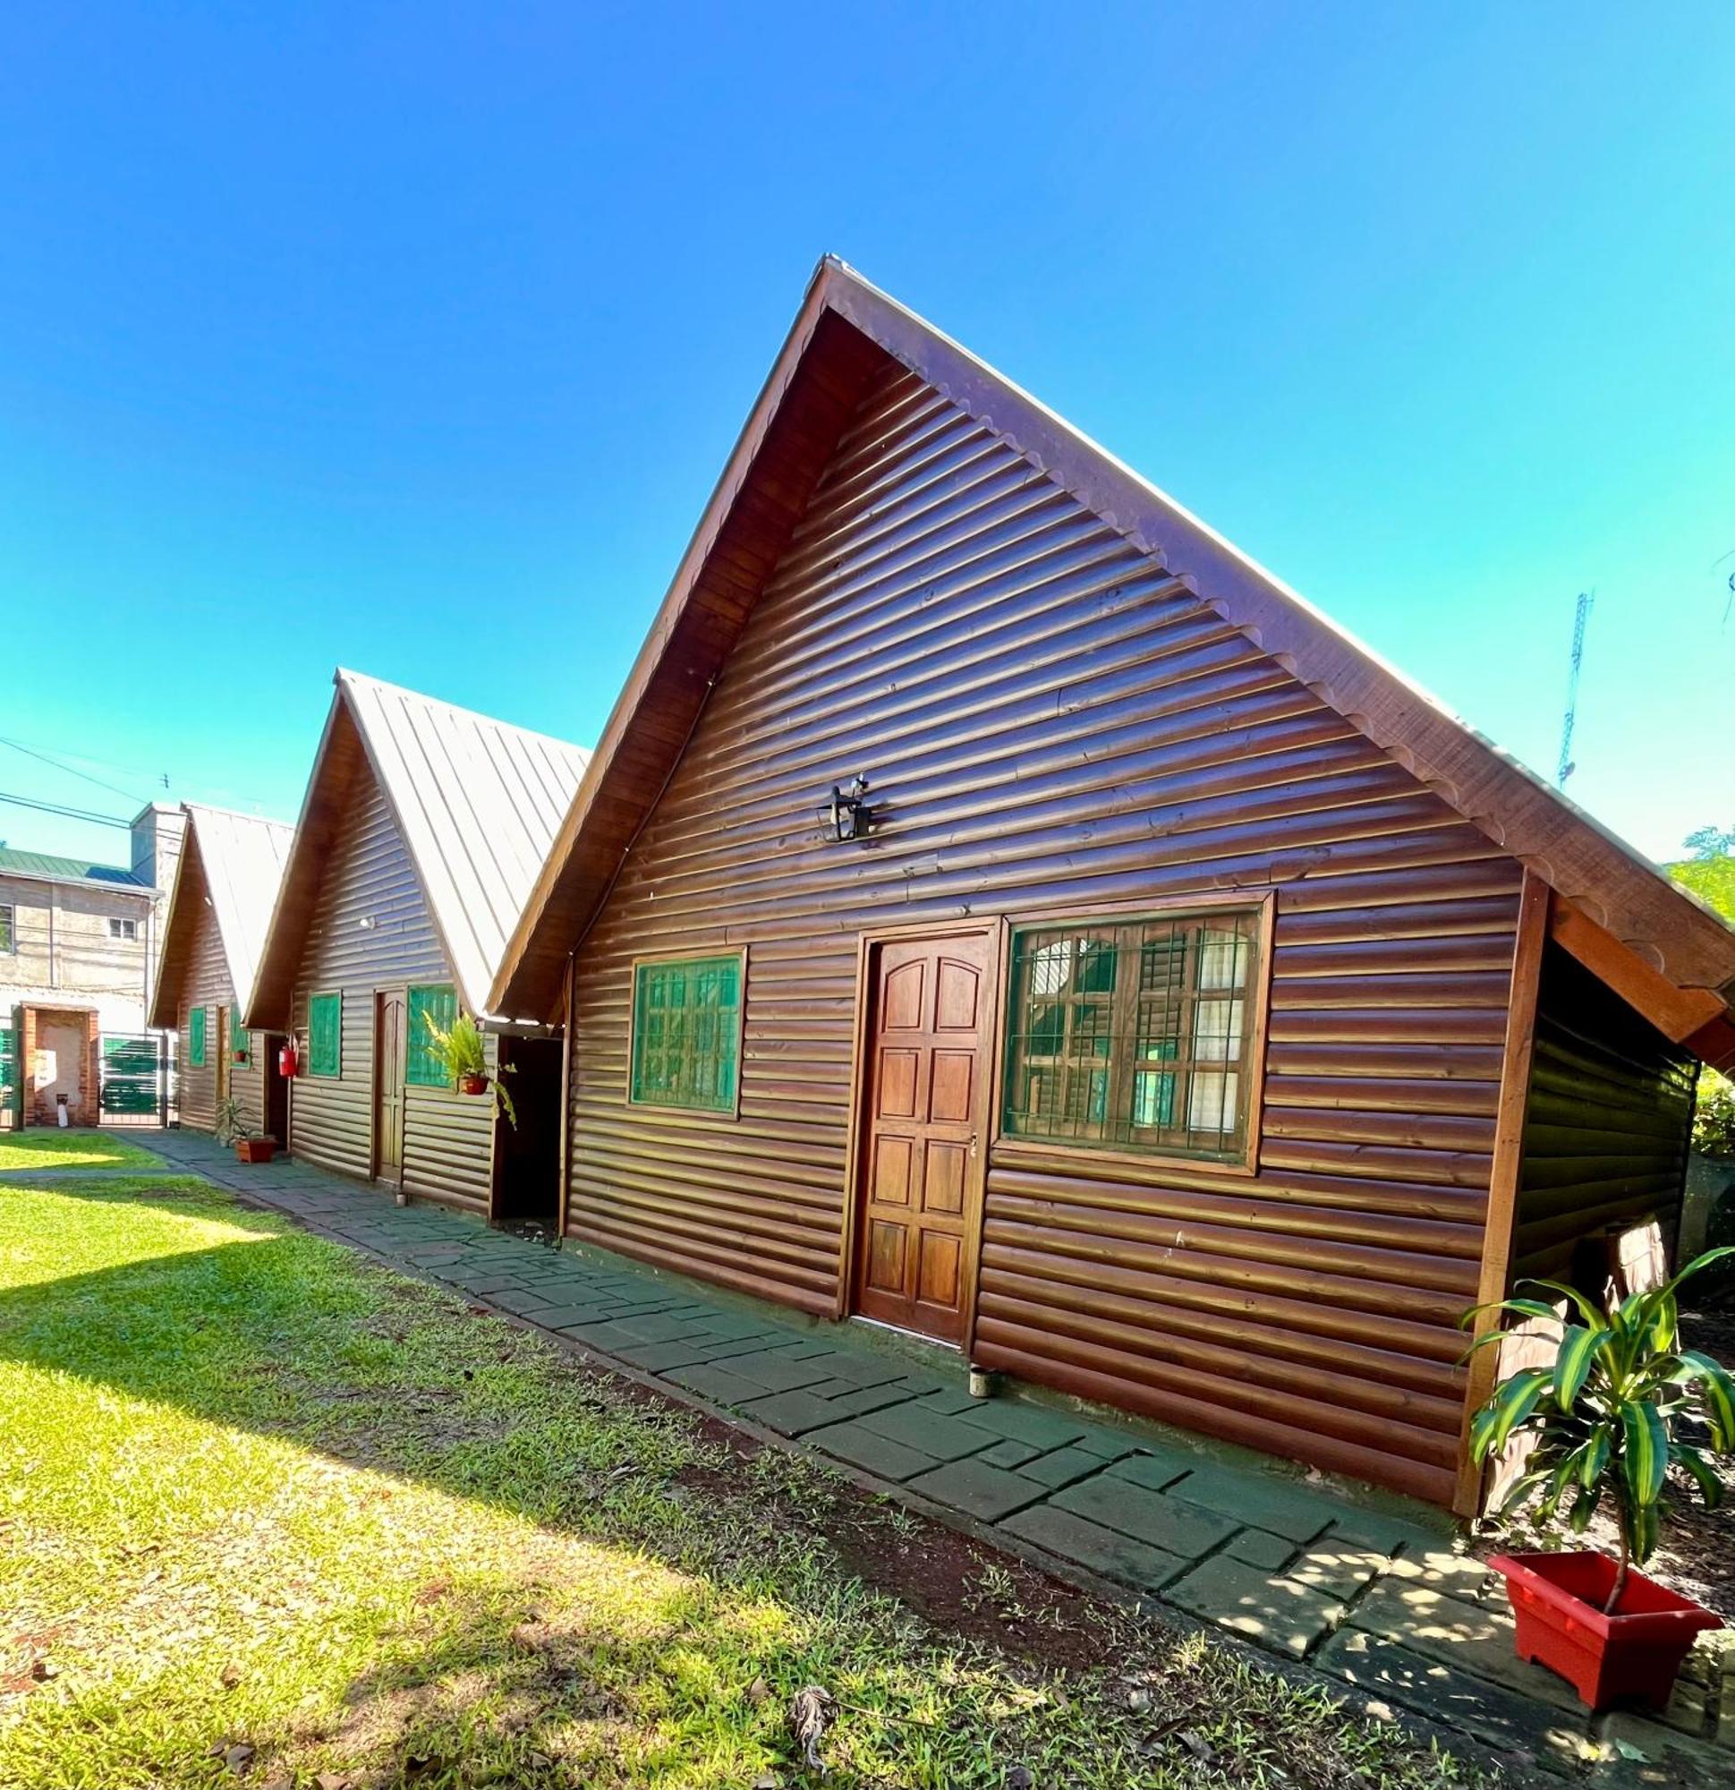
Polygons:
<instances>
[{"instance_id":1,"label":"large barred green-framed window right of the nearest cabin's door","mask_svg":"<svg viewBox=\"0 0 1735 1790\"><path fill-rule=\"evenodd\" d=\"M1003 1135L1245 1162L1261 909L1012 929Z\"/></svg>"}]
</instances>

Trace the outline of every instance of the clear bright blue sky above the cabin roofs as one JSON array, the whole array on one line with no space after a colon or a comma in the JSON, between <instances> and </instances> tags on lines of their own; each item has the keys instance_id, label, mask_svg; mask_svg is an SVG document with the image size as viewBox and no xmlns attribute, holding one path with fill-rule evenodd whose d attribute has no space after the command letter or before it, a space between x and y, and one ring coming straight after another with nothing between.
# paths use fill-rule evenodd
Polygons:
<instances>
[{"instance_id":1,"label":"clear bright blue sky above the cabin roofs","mask_svg":"<svg viewBox=\"0 0 1735 1790\"><path fill-rule=\"evenodd\" d=\"M106 5L0 36L0 791L592 743L821 252L1646 850L1735 822L1735 7ZM0 804L18 847L123 836Z\"/></svg>"}]
</instances>

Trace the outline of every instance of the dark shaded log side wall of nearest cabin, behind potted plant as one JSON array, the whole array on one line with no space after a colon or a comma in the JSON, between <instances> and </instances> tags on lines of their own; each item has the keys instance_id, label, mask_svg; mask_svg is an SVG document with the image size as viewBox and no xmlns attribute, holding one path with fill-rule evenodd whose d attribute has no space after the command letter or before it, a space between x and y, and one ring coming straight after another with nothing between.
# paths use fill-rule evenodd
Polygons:
<instances>
[{"instance_id":1,"label":"dark shaded log side wall of nearest cabin, behind potted plant","mask_svg":"<svg viewBox=\"0 0 1735 1790\"><path fill-rule=\"evenodd\" d=\"M1656 1221L1674 1246L1694 1061L1560 945L1542 961L1513 1276L1570 1278L1581 1240ZM1603 1251L1585 1266L1601 1292Z\"/></svg>"}]
</instances>

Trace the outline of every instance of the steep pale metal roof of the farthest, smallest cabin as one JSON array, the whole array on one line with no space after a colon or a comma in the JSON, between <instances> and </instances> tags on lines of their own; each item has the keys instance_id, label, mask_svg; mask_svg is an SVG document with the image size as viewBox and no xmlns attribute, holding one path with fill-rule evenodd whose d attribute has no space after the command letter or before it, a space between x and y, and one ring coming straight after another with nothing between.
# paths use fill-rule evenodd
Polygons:
<instances>
[{"instance_id":1,"label":"steep pale metal roof of the farthest, smallest cabin","mask_svg":"<svg viewBox=\"0 0 1735 1790\"><path fill-rule=\"evenodd\" d=\"M283 882L295 829L259 814L182 802L186 843L175 865L174 893L163 920L163 956L150 995L148 1024L172 1027L193 947L199 911L209 904L229 965L229 983L241 1011L252 999L265 949L265 927ZM202 893L195 893L202 882Z\"/></svg>"}]
</instances>

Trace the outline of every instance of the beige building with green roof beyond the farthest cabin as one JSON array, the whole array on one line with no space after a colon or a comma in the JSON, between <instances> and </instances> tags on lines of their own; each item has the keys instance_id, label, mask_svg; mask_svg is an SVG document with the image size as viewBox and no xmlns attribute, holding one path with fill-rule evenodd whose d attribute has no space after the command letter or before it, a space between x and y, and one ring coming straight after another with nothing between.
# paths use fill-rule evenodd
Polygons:
<instances>
[{"instance_id":1,"label":"beige building with green roof beyond the farthest cabin","mask_svg":"<svg viewBox=\"0 0 1735 1790\"><path fill-rule=\"evenodd\" d=\"M132 818L131 861L0 848L0 1126L98 1121L104 1033L140 1033L179 809Z\"/></svg>"}]
</instances>

